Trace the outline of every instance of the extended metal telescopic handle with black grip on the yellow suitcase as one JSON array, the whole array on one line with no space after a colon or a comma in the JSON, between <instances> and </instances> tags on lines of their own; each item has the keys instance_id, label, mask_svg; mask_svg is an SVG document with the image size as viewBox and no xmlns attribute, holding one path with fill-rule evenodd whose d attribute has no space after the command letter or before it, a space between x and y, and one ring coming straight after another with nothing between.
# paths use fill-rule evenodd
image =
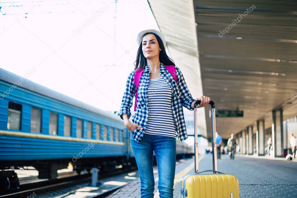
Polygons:
<instances>
[{"instance_id":1,"label":"extended metal telescopic handle with black grip on the yellow suitcase","mask_svg":"<svg viewBox=\"0 0 297 198\"><path fill-rule=\"evenodd\" d=\"M195 139L195 172L198 172L198 126L197 126L197 106L201 103L201 100L197 100L194 103L194 139ZM208 104L211 105L211 118L212 118L212 168L213 172L217 173L217 142L216 142L216 109L213 101Z\"/></svg>"}]
</instances>

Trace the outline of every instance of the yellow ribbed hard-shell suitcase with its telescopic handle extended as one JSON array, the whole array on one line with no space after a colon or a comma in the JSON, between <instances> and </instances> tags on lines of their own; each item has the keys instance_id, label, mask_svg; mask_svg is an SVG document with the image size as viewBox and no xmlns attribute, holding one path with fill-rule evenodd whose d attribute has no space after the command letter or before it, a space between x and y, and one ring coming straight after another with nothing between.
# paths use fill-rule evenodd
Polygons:
<instances>
[{"instance_id":1,"label":"yellow ribbed hard-shell suitcase with its telescopic handle extended","mask_svg":"<svg viewBox=\"0 0 297 198\"><path fill-rule=\"evenodd\" d=\"M197 105L194 104L194 131L195 131L195 173L183 178L181 195L183 198L239 198L239 185L236 177L217 171L217 143L215 138L215 105L210 101L212 117L212 161L213 170L198 172L198 134L197 134ZM200 174L212 172L209 174Z\"/></svg>"}]
</instances>

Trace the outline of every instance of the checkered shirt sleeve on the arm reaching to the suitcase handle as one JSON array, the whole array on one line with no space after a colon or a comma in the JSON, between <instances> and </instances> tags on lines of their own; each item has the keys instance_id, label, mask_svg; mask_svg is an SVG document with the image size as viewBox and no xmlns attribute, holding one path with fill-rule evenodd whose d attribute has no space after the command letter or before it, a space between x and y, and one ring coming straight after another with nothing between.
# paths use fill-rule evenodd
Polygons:
<instances>
[{"instance_id":1,"label":"checkered shirt sleeve on the arm reaching to the suitcase handle","mask_svg":"<svg viewBox=\"0 0 297 198\"><path fill-rule=\"evenodd\" d=\"M176 68L176 75L177 75L177 84L178 88L181 94L181 102L184 107L186 107L188 110L194 110L191 109L191 104L195 99L192 98L192 95L187 87L186 81L184 79L183 74L181 73L181 70L175 66Z\"/></svg>"}]
</instances>

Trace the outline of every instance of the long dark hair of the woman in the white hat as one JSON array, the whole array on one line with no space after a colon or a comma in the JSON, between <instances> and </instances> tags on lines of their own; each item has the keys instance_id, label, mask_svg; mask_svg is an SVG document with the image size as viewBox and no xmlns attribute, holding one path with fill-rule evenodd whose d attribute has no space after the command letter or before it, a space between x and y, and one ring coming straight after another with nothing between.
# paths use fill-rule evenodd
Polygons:
<instances>
[{"instance_id":1,"label":"long dark hair of the woman in the white hat","mask_svg":"<svg viewBox=\"0 0 297 198\"><path fill-rule=\"evenodd\" d=\"M163 44L162 40L160 39L160 37L155 33L147 32L142 36L142 38L140 40L140 45L137 50L136 61L134 62L134 63L136 63L134 70L135 69L138 69L138 70L144 69L147 65L146 57L143 56L143 52L142 52L142 40L146 34L154 34L155 37L157 38L159 47L161 47L161 49L162 49L159 54L160 62L163 63L164 65L174 65L175 66L173 60L167 56L164 44Z\"/></svg>"}]
</instances>

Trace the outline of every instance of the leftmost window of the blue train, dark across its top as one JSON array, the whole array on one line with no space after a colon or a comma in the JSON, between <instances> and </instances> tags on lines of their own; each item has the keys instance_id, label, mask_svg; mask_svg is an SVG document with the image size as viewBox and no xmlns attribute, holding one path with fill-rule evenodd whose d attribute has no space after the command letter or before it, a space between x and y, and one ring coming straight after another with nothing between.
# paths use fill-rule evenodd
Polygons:
<instances>
[{"instance_id":1,"label":"leftmost window of the blue train, dark across its top","mask_svg":"<svg viewBox=\"0 0 297 198\"><path fill-rule=\"evenodd\" d=\"M8 103L8 120L7 129L20 130L20 116L22 113L22 105L13 102Z\"/></svg>"}]
</instances>

